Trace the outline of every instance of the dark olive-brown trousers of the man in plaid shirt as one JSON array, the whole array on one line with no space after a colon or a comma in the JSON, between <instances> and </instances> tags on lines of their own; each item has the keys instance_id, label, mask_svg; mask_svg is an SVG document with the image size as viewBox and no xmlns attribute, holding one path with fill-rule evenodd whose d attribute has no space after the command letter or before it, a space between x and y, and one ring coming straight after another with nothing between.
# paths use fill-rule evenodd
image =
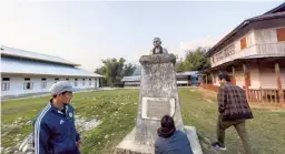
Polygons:
<instances>
[{"instance_id":1,"label":"dark olive-brown trousers of the man in plaid shirt","mask_svg":"<svg viewBox=\"0 0 285 154\"><path fill-rule=\"evenodd\" d=\"M249 143L248 134L245 127L245 120L237 121L223 121L222 117L218 117L217 122L217 138L219 144L225 144L225 131L226 129L235 126L245 148L246 154L253 154L252 146Z\"/></svg>"}]
</instances>

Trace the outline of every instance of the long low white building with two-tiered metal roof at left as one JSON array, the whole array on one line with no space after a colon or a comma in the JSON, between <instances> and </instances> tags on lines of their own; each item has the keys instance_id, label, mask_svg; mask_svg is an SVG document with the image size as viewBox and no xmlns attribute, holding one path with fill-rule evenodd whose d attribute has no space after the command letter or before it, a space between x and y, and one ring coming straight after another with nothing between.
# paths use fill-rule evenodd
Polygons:
<instances>
[{"instance_id":1,"label":"long low white building with two-tiered metal roof at left","mask_svg":"<svg viewBox=\"0 0 285 154\"><path fill-rule=\"evenodd\" d=\"M0 47L0 51L1 97L47 93L63 80L82 90L99 88L101 75L65 59L9 47Z\"/></svg>"}]
</instances>

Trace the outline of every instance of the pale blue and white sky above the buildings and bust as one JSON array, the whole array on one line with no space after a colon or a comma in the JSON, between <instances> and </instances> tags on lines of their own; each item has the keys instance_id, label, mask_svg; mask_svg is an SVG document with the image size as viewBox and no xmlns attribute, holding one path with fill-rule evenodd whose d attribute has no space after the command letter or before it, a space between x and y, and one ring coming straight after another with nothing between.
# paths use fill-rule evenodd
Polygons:
<instances>
[{"instance_id":1,"label":"pale blue and white sky above the buildings and bust","mask_svg":"<svg viewBox=\"0 0 285 154\"><path fill-rule=\"evenodd\" d=\"M168 52L213 45L282 1L0 2L0 45L51 54L94 71L107 58L138 63L154 37Z\"/></svg>"}]
</instances>

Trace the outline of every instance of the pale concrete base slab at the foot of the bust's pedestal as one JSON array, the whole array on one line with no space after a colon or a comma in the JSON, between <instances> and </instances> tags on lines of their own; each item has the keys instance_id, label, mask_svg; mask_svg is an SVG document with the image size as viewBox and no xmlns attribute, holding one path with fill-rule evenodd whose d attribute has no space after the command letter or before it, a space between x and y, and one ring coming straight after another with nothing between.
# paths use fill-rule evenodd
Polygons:
<instances>
[{"instance_id":1,"label":"pale concrete base slab at the foot of the bust's pedestal","mask_svg":"<svg viewBox=\"0 0 285 154\"><path fill-rule=\"evenodd\" d=\"M203 154L202 146L194 126L185 126L185 133L191 144L194 154ZM135 141L136 129L127 134L127 136L116 146L114 154L155 154L153 145L140 144Z\"/></svg>"}]
</instances>

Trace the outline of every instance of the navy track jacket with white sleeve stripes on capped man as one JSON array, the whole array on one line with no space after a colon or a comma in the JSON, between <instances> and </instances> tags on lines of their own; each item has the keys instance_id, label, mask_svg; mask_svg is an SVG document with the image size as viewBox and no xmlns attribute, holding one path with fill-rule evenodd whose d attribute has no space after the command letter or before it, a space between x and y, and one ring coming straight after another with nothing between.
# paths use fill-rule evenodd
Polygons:
<instances>
[{"instance_id":1,"label":"navy track jacket with white sleeve stripes on capped man","mask_svg":"<svg viewBox=\"0 0 285 154\"><path fill-rule=\"evenodd\" d=\"M66 104L65 109L62 113L50 102L38 114L33 123L35 154L80 154L73 107Z\"/></svg>"}]
</instances>

